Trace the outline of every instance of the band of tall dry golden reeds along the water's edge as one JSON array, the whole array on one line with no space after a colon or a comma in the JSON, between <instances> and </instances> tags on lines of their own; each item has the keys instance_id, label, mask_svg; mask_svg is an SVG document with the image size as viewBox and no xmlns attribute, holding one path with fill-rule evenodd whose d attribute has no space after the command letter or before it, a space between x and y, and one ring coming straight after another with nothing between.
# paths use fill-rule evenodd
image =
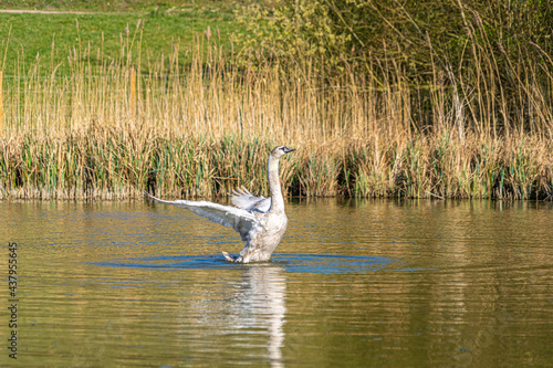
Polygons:
<instances>
[{"instance_id":1,"label":"band of tall dry golden reeds along the water's edge","mask_svg":"<svg viewBox=\"0 0 553 368\"><path fill-rule=\"evenodd\" d=\"M185 56L175 44L147 71L139 45L115 60L72 50L63 75L40 59L4 71L0 198L267 196L276 144L298 148L281 166L292 196L553 198L543 71L513 69L517 111L482 69L469 85L437 67L420 86L393 60L328 81L309 60L283 73L278 60L238 63L204 42Z\"/></svg>"}]
</instances>

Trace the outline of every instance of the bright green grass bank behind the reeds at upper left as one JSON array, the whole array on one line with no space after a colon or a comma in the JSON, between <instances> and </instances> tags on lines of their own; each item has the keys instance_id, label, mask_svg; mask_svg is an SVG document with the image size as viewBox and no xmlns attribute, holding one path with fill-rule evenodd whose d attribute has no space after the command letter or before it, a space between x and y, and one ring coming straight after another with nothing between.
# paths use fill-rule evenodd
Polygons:
<instances>
[{"instance_id":1,"label":"bright green grass bank behind the reeds at upper left","mask_svg":"<svg viewBox=\"0 0 553 368\"><path fill-rule=\"evenodd\" d=\"M82 10L80 3L71 10ZM100 63L96 56L98 50L104 57L121 57L121 42L122 39L126 42L127 24L129 40L136 36L134 49L139 38L143 39L142 70L146 70L148 63L158 57L168 59L174 45L178 46L180 57L184 59L187 51L196 44L197 36L205 39L208 27L211 36L220 39L218 42L228 50L231 34L241 32L233 20L230 6L178 7L173 10L167 7L155 10L152 3L137 7L125 8L127 12L94 14L0 13L0 69L3 69L4 75L9 75L17 71L18 62L30 64L40 57L54 65L61 63L58 73L63 74L67 69L70 50L85 50L88 46L91 51L87 61L95 66ZM136 57L137 50L133 48L133 55ZM2 67L4 54L6 64Z\"/></svg>"}]
</instances>

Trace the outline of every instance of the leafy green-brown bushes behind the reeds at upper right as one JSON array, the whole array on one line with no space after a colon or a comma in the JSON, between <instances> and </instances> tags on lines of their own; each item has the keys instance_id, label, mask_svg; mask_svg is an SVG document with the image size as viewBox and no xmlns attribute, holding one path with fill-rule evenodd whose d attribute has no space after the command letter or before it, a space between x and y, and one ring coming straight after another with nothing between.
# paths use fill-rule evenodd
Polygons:
<instances>
[{"instance_id":1,"label":"leafy green-brown bushes behind the reeds at upper right","mask_svg":"<svg viewBox=\"0 0 553 368\"><path fill-rule=\"evenodd\" d=\"M497 57L530 44L553 51L550 1L284 0L241 9L238 19L242 46L289 62L312 56L328 73L363 70L375 57L428 73L432 57L451 65L469 57L469 41L474 52L495 44Z\"/></svg>"}]
</instances>

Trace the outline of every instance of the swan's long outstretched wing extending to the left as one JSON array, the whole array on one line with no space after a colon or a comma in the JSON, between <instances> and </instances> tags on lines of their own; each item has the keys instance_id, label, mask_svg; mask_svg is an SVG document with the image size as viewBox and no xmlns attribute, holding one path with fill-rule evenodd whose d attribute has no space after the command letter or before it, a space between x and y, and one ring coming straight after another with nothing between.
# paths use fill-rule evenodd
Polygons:
<instances>
[{"instance_id":1,"label":"swan's long outstretched wing extending to the left","mask_svg":"<svg viewBox=\"0 0 553 368\"><path fill-rule=\"evenodd\" d=\"M254 214L243 209L238 209L230 206L222 206L207 201L165 201L152 196L147 191L144 191L144 196L155 200L158 203L189 209L194 213L201 215L208 220L220 223L225 227L230 227L240 234L243 241L248 240L248 233L254 225L259 223L259 220Z\"/></svg>"}]
</instances>

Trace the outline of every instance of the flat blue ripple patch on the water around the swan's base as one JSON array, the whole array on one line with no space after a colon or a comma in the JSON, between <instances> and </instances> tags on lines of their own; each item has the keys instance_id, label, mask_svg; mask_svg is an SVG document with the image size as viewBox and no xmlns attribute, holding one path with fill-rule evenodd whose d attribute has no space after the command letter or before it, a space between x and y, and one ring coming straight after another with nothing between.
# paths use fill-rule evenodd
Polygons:
<instances>
[{"instance_id":1,"label":"flat blue ripple patch on the water around the swan's base","mask_svg":"<svg viewBox=\"0 0 553 368\"><path fill-rule=\"evenodd\" d=\"M136 269L185 269L232 270L237 267L280 266L290 272L351 273L384 271L394 260L384 256L330 255L330 254L275 254L270 262L236 264L225 261L222 255L147 256L91 262L108 267Z\"/></svg>"}]
</instances>

